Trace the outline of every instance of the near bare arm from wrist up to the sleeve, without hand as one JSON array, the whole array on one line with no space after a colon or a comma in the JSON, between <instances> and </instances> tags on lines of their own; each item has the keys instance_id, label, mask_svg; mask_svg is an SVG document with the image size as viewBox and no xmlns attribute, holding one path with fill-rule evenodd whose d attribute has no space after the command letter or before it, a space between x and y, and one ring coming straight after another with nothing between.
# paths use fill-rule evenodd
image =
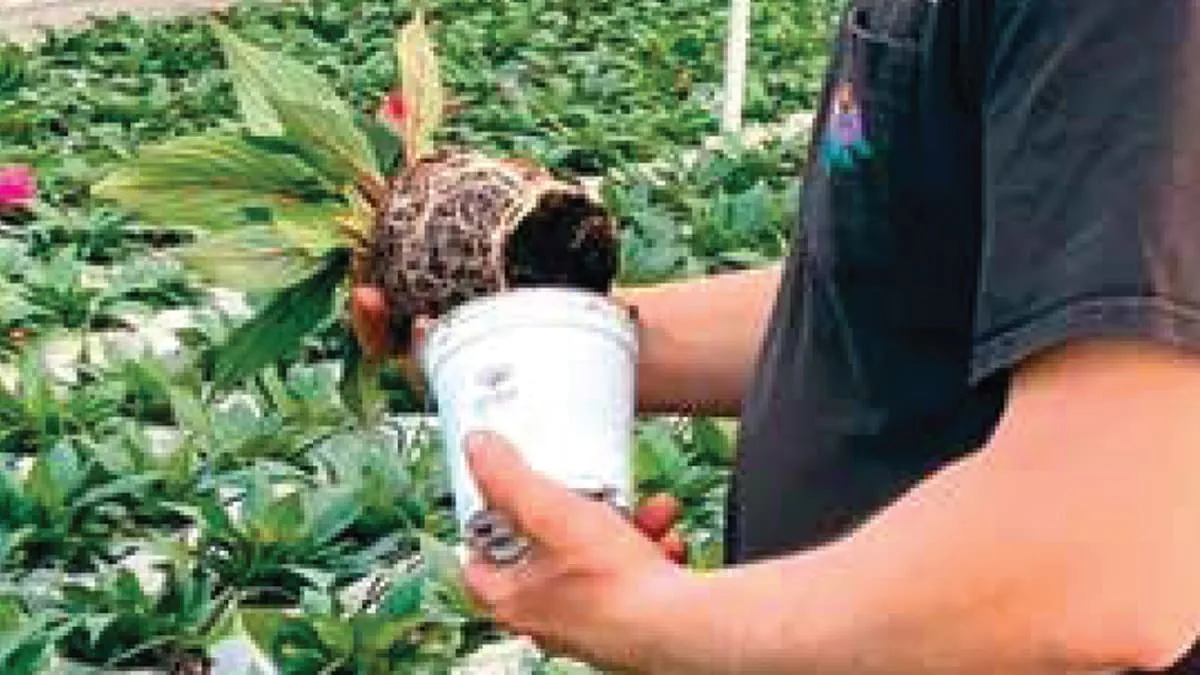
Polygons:
<instances>
[{"instance_id":1,"label":"near bare arm from wrist up to the sleeve, without hand","mask_svg":"<svg viewBox=\"0 0 1200 675\"><path fill-rule=\"evenodd\" d=\"M1145 344L1043 358L985 450L838 544L684 584L631 631L653 656L642 663L822 675L1169 667L1200 626L1196 401L1200 363Z\"/></svg>"}]
</instances>

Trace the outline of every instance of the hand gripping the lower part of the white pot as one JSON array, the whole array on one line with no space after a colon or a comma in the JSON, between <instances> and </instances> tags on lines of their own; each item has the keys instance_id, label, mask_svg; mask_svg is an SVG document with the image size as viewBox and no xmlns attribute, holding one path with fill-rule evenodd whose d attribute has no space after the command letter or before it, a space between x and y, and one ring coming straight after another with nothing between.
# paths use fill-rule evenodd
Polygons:
<instances>
[{"instance_id":1,"label":"hand gripping the lower part of the white pot","mask_svg":"<svg viewBox=\"0 0 1200 675\"><path fill-rule=\"evenodd\" d=\"M604 668L634 668L653 653L672 611L697 578L664 555L661 543L608 504L588 500L528 467L503 440L476 436L468 461L488 506L533 543L514 567L474 556L467 589L502 626L550 652ZM641 509L643 530L666 532L673 502Z\"/></svg>"}]
</instances>

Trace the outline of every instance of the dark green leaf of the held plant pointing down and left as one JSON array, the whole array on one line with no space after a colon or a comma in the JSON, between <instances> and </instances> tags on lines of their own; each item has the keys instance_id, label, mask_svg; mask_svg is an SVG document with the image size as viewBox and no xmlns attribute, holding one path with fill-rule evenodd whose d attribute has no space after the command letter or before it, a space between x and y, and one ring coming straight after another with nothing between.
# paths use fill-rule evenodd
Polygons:
<instances>
[{"instance_id":1,"label":"dark green leaf of the held plant pointing down and left","mask_svg":"<svg viewBox=\"0 0 1200 675\"><path fill-rule=\"evenodd\" d=\"M330 317L335 294L349 271L350 252L335 250L317 271L280 292L263 311L238 327L214 354L215 388L226 390L296 350Z\"/></svg>"}]
</instances>

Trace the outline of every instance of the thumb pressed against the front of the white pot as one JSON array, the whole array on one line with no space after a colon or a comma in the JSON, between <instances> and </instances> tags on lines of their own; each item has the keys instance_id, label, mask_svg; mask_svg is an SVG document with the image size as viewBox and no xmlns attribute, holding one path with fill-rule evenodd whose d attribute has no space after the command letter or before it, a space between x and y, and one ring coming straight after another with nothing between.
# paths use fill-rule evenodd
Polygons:
<instances>
[{"instance_id":1,"label":"thumb pressed against the front of the white pot","mask_svg":"<svg viewBox=\"0 0 1200 675\"><path fill-rule=\"evenodd\" d=\"M468 437L467 461L488 508L511 518L522 534L539 544L569 542L581 525L575 518L578 509L595 506L534 471L508 441L493 434Z\"/></svg>"}]
</instances>

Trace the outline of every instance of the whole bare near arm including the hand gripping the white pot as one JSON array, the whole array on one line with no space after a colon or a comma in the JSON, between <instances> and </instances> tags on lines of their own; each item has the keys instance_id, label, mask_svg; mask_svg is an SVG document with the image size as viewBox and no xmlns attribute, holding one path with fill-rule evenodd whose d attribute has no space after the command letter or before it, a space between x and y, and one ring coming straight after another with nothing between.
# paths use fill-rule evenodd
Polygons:
<instances>
[{"instance_id":1,"label":"whole bare near arm including the hand gripping the white pot","mask_svg":"<svg viewBox=\"0 0 1200 675\"><path fill-rule=\"evenodd\" d=\"M474 437L485 498L536 548L466 578L510 629L635 673L1163 669L1200 627L1196 400L1194 356L1066 345L1020 369L979 453L857 531L706 574Z\"/></svg>"}]
</instances>

